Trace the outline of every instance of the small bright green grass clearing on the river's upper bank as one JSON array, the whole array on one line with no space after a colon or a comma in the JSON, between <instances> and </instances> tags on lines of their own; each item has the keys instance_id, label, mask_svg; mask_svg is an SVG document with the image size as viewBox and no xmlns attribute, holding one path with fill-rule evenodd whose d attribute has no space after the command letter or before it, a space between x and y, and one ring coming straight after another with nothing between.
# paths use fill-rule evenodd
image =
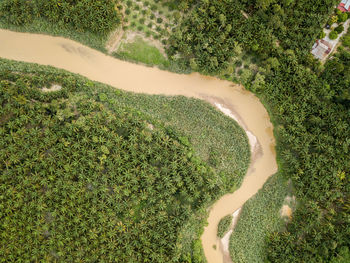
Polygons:
<instances>
[{"instance_id":1,"label":"small bright green grass clearing on the river's upper bank","mask_svg":"<svg viewBox=\"0 0 350 263\"><path fill-rule=\"evenodd\" d=\"M159 49L149 45L141 37L135 38L131 43L123 42L114 55L147 65L161 65L164 68L169 66L169 61L160 53Z\"/></svg>"}]
</instances>

